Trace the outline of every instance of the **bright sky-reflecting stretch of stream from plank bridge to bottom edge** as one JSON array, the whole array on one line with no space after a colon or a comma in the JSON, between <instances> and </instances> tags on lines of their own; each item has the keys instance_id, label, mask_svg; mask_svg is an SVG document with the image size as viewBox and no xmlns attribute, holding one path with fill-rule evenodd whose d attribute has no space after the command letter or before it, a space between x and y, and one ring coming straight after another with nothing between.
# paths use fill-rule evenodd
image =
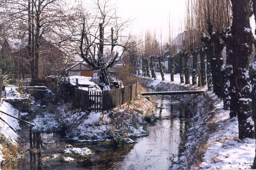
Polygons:
<instances>
[{"instance_id":1,"label":"bright sky-reflecting stretch of stream from plank bridge to bottom edge","mask_svg":"<svg viewBox=\"0 0 256 170\"><path fill-rule=\"evenodd\" d=\"M178 148L189 121L183 105L165 97L156 103L159 118L148 126L149 136L138 139L138 143L115 169L121 170L168 170L177 160Z\"/></svg>"}]
</instances>

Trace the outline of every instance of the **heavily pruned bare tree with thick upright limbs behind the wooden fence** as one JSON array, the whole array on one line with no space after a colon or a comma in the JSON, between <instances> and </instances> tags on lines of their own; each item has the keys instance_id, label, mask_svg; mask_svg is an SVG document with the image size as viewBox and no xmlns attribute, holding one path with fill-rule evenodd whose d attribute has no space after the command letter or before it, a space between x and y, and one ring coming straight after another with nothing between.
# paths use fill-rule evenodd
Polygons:
<instances>
[{"instance_id":1,"label":"heavily pruned bare tree with thick upright limbs behind the wooden fence","mask_svg":"<svg viewBox=\"0 0 256 170\"><path fill-rule=\"evenodd\" d=\"M60 44L73 45L73 50L99 72L102 87L114 88L108 69L135 45L129 43L130 34L123 34L130 20L122 21L109 0L94 0L91 8L86 11L82 4L77 7L77 19L67 28Z\"/></svg>"}]
</instances>

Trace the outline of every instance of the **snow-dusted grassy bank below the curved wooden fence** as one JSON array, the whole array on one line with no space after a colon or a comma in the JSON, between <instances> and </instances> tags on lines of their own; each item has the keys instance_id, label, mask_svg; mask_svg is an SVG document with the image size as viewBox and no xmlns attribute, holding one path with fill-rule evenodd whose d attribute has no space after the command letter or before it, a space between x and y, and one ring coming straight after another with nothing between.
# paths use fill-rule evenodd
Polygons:
<instances>
[{"instance_id":1,"label":"snow-dusted grassy bank below the curved wooden fence","mask_svg":"<svg viewBox=\"0 0 256 170\"><path fill-rule=\"evenodd\" d=\"M155 119L154 104L143 96L103 112L78 109L74 106L72 99L69 101L60 99L55 102L54 107L52 103L46 98L45 106L40 102L34 104L34 112L37 112L37 116L33 122L37 125L33 130L63 131L68 139L80 142L132 143L133 141L129 138L146 136L146 121Z\"/></svg>"}]
</instances>

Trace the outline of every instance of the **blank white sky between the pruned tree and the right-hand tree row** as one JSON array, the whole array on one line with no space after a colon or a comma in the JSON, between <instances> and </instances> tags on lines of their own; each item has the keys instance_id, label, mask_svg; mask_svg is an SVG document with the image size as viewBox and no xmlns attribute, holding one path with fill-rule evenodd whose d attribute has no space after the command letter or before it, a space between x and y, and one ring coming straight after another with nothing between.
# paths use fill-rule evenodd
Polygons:
<instances>
[{"instance_id":1,"label":"blank white sky between the pruned tree and the right-hand tree row","mask_svg":"<svg viewBox=\"0 0 256 170\"><path fill-rule=\"evenodd\" d=\"M110 0L116 4L118 15L123 19L134 19L132 33L142 35L145 30L156 31L158 37L163 33L163 41L168 39L169 13L174 37L181 33L184 25L185 0ZM183 30L184 31L184 30Z\"/></svg>"}]
</instances>

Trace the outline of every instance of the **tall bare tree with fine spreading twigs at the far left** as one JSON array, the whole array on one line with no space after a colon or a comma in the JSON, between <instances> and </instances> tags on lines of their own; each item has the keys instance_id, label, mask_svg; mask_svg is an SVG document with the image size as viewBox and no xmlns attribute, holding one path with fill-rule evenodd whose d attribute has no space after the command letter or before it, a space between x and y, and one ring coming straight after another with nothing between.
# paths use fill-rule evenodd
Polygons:
<instances>
[{"instance_id":1,"label":"tall bare tree with fine spreading twigs at the far left","mask_svg":"<svg viewBox=\"0 0 256 170\"><path fill-rule=\"evenodd\" d=\"M63 26L64 3L60 0L1 0L1 19L10 39L18 40L19 47L27 47L33 79L39 78L41 45L48 42L54 30ZM23 43L23 44L21 44ZM23 47L21 46L23 45Z\"/></svg>"}]
</instances>

